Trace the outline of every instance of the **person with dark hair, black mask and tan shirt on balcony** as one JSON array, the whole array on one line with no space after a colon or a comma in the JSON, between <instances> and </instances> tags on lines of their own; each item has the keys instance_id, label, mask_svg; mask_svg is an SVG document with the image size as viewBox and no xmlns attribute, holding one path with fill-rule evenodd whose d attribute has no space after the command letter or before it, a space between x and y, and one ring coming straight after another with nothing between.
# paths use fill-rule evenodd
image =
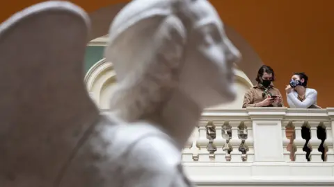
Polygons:
<instances>
[{"instance_id":1,"label":"person with dark hair, black mask and tan shirt on balcony","mask_svg":"<svg viewBox=\"0 0 334 187\"><path fill-rule=\"evenodd\" d=\"M257 84L246 91L243 108L284 107L280 91L273 86L275 73L270 66L261 66L255 80Z\"/></svg>"}]
</instances>

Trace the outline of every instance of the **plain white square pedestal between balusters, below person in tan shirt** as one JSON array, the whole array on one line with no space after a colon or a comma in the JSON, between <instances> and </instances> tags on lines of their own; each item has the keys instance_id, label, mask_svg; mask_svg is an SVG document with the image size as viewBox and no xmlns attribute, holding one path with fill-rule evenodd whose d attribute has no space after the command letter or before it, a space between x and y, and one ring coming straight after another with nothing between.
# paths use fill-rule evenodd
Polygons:
<instances>
[{"instance_id":1,"label":"plain white square pedestal between balusters, below person in tan shirt","mask_svg":"<svg viewBox=\"0 0 334 187\"><path fill-rule=\"evenodd\" d=\"M285 161L282 119L287 108L248 108L253 121L254 161Z\"/></svg>"}]
</instances>

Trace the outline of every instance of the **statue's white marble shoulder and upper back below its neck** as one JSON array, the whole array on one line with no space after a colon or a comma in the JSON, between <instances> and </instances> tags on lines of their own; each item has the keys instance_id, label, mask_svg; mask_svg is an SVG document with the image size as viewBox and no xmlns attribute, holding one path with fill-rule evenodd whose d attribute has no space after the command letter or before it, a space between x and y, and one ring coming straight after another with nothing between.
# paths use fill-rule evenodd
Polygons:
<instances>
[{"instance_id":1,"label":"statue's white marble shoulder and upper back below its neck","mask_svg":"<svg viewBox=\"0 0 334 187\"><path fill-rule=\"evenodd\" d=\"M62 187L95 186L96 181L122 186L125 181L138 182L142 175L154 179L157 171L168 180L177 175L180 150L152 124L124 123L102 115L88 136L68 166Z\"/></svg>"}]
</instances>

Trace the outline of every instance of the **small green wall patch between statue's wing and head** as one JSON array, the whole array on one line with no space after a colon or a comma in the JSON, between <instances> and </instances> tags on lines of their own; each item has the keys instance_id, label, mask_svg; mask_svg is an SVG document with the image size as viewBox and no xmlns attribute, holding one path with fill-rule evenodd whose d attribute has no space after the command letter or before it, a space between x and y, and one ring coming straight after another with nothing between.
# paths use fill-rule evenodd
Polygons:
<instances>
[{"instance_id":1,"label":"small green wall patch between statue's wing and head","mask_svg":"<svg viewBox=\"0 0 334 187\"><path fill-rule=\"evenodd\" d=\"M87 46L85 54L85 73L103 58L104 46Z\"/></svg>"}]
</instances>

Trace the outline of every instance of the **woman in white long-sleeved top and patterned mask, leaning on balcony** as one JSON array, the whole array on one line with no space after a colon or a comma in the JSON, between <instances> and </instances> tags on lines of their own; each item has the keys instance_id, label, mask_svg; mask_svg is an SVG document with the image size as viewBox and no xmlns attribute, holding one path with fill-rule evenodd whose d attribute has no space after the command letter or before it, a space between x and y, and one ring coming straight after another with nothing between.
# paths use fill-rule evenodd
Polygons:
<instances>
[{"instance_id":1,"label":"woman in white long-sleeved top and patterned mask, leaning on balcony","mask_svg":"<svg viewBox=\"0 0 334 187\"><path fill-rule=\"evenodd\" d=\"M308 75L305 73L294 73L289 85L285 88L287 103L290 108L320 108L317 105L317 91L308 88L307 85Z\"/></svg>"}]
</instances>

